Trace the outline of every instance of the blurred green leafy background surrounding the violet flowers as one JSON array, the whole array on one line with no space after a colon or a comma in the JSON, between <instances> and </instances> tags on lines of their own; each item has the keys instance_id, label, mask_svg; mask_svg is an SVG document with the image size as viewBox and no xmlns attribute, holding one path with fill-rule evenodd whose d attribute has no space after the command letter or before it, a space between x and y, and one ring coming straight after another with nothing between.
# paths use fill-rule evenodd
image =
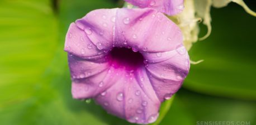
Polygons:
<instances>
[{"instance_id":1,"label":"blurred green leafy background surrounding the violet flowers","mask_svg":"<svg viewBox=\"0 0 256 125\"><path fill-rule=\"evenodd\" d=\"M0 1L0 124L130 124L93 101L72 99L65 33L71 22L111 0ZM248 3L256 11L256 3ZM256 17L231 3L212 8L212 33L189 51L190 73L158 124L256 124ZM201 34L206 27L201 26ZM170 105L172 103L172 105ZM170 107L168 107L170 106ZM169 109L170 108L170 109Z\"/></svg>"}]
</instances>

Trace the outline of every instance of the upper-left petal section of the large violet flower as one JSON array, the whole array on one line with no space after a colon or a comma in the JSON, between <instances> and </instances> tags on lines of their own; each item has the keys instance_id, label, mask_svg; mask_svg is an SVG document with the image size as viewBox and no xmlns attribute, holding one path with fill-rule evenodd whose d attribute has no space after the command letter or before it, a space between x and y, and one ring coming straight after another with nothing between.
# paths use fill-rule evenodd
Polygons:
<instances>
[{"instance_id":1,"label":"upper-left petal section of the large violet flower","mask_svg":"<svg viewBox=\"0 0 256 125\"><path fill-rule=\"evenodd\" d=\"M87 32L89 40L96 45L98 50L110 50L112 48L116 11L117 8L97 9L75 21L79 28Z\"/></svg>"}]
</instances>

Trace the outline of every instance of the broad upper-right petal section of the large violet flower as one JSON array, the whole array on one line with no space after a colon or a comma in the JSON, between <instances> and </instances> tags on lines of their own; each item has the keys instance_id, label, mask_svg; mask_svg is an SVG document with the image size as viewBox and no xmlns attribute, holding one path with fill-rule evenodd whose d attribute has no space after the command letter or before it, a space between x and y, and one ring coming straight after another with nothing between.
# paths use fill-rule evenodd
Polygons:
<instances>
[{"instance_id":1,"label":"broad upper-right petal section of the large violet flower","mask_svg":"<svg viewBox=\"0 0 256 125\"><path fill-rule=\"evenodd\" d=\"M115 46L164 52L182 43L179 27L155 9L118 9L116 19Z\"/></svg>"}]
</instances>

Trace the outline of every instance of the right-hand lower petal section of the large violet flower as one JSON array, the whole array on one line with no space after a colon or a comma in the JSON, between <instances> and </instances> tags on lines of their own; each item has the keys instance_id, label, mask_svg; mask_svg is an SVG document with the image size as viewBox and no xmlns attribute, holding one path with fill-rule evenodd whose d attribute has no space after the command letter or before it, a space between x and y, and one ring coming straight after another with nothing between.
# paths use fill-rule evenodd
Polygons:
<instances>
[{"instance_id":1,"label":"right-hand lower petal section of the large violet flower","mask_svg":"<svg viewBox=\"0 0 256 125\"><path fill-rule=\"evenodd\" d=\"M181 88L189 71L189 56L183 45L176 50L144 54L146 69L159 100L170 99Z\"/></svg>"}]
</instances>

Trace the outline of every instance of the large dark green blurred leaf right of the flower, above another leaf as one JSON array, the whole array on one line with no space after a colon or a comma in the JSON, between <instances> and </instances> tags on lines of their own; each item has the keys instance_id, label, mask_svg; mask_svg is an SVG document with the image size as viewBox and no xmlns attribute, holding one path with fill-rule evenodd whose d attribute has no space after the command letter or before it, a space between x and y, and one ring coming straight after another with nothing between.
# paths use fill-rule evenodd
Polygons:
<instances>
[{"instance_id":1,"label":"large dark green blurred leaf right of the flower, above another leaf","mask_svg":"<svg viewBox=\"0 0 256 125\"><path fill-rule=\"evenodd\" d=\"M236 4L212 8L212 33L195 44L192 60L205 60L192 65L183 85L199 93L222 97L256 99L256 18Z\"/></svg>"}]
</instances>

